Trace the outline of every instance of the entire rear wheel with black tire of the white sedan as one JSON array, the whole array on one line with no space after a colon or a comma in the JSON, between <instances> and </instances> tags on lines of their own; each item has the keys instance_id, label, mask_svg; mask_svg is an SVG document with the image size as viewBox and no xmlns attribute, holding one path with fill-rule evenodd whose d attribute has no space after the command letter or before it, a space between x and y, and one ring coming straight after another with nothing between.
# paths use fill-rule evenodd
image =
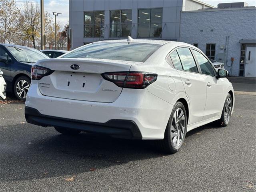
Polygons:
<instances>
[{"instance_id":1,"label":"entire rear wheel with black tire of the white sedan","mask_svg":"<svg viewBox=\"0 0 256 192\"><path fill-rule=\"evenodd\" d=\"M180 120L179 118L180 115L183 115L182 120ZM178 119L176 116L178 116ZM177 120L179 121L177 122ZM184 143L186 132L187 132L186 109L182 104L182 102L176 102L176 104L172 109L170 118L168 120L166 130L164 132L164 139L156 140L156 142L158 143L159 150L165 153L171 153L171 154L176 153ZM175 140L175 137L176 137L176 140Z\"/></svg>"}]
</instances>

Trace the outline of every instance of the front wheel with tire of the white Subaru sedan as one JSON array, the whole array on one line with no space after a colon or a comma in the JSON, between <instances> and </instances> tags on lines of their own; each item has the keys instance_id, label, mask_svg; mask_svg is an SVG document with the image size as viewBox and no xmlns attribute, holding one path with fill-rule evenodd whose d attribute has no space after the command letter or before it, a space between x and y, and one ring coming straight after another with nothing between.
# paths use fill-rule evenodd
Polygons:
<instances>
[{"instance_id":1,"label":"front wheel with tire of the white Subaru sedan","mask_svg":"<svg viewBox=\"0 0 256 192\"><path fill-rule=\"evenodd\" d=\"M232 111L233 101L231 95L228 93L223 109L220 120L217 121L217 124L225 127L228 125L231 117L231 111Z\"/></svg>"}]
</instances>

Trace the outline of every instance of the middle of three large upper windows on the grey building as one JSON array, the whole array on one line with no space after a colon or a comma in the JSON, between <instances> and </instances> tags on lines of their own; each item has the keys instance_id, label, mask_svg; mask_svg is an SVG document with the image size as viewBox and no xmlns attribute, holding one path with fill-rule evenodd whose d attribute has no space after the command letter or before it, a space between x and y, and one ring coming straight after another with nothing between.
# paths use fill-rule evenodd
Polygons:
<instances>
[{"instance_id":1,"label":"middle of three large upper windows on the grey building","mask_svg":"<svg viewBox=\"0 0 256 192\"><path fill-rule=\"evenodd\" d=\"M132 30L132 10L110 11L110 37L127 37Z\"/></svg>"}]
</instances>

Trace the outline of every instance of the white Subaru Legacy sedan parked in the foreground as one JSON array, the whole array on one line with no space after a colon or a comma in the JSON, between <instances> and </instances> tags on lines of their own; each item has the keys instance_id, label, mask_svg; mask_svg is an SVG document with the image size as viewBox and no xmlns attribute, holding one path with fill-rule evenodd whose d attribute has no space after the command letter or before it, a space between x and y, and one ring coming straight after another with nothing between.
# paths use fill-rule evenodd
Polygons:
<instances>
[{"instance_id":1,"label":"white Subaru Legacy sedan parked in the foreground","mask_svg":"<svg viewBox=\"0 0 256 192\"><path fill-rule=\"evenodd\" d=\"M32 67L25 116L62 134L158 140L175 153L186 132L228 125L234 90L227 75L182 42L94 42Z\"/></svg>"}]
</instances>

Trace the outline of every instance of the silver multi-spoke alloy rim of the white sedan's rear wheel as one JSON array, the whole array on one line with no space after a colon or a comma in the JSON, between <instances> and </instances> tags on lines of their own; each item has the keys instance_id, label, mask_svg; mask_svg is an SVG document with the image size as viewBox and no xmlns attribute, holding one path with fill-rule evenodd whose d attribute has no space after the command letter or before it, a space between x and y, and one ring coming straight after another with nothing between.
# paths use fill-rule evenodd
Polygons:
<instances>
[{"instance_id":1,"label":"silver multi-spoke alloy rim of the white sedan's rear wheel","mask_svg":"<svg viewBox=\"0 0 256 192\"><path fill-rule=\"evenodd\" d=\"M182 142L185 130L185 115L181 108L178 108L172 118L171 140L175 147Z\"/></svg>"}]
</instances>

